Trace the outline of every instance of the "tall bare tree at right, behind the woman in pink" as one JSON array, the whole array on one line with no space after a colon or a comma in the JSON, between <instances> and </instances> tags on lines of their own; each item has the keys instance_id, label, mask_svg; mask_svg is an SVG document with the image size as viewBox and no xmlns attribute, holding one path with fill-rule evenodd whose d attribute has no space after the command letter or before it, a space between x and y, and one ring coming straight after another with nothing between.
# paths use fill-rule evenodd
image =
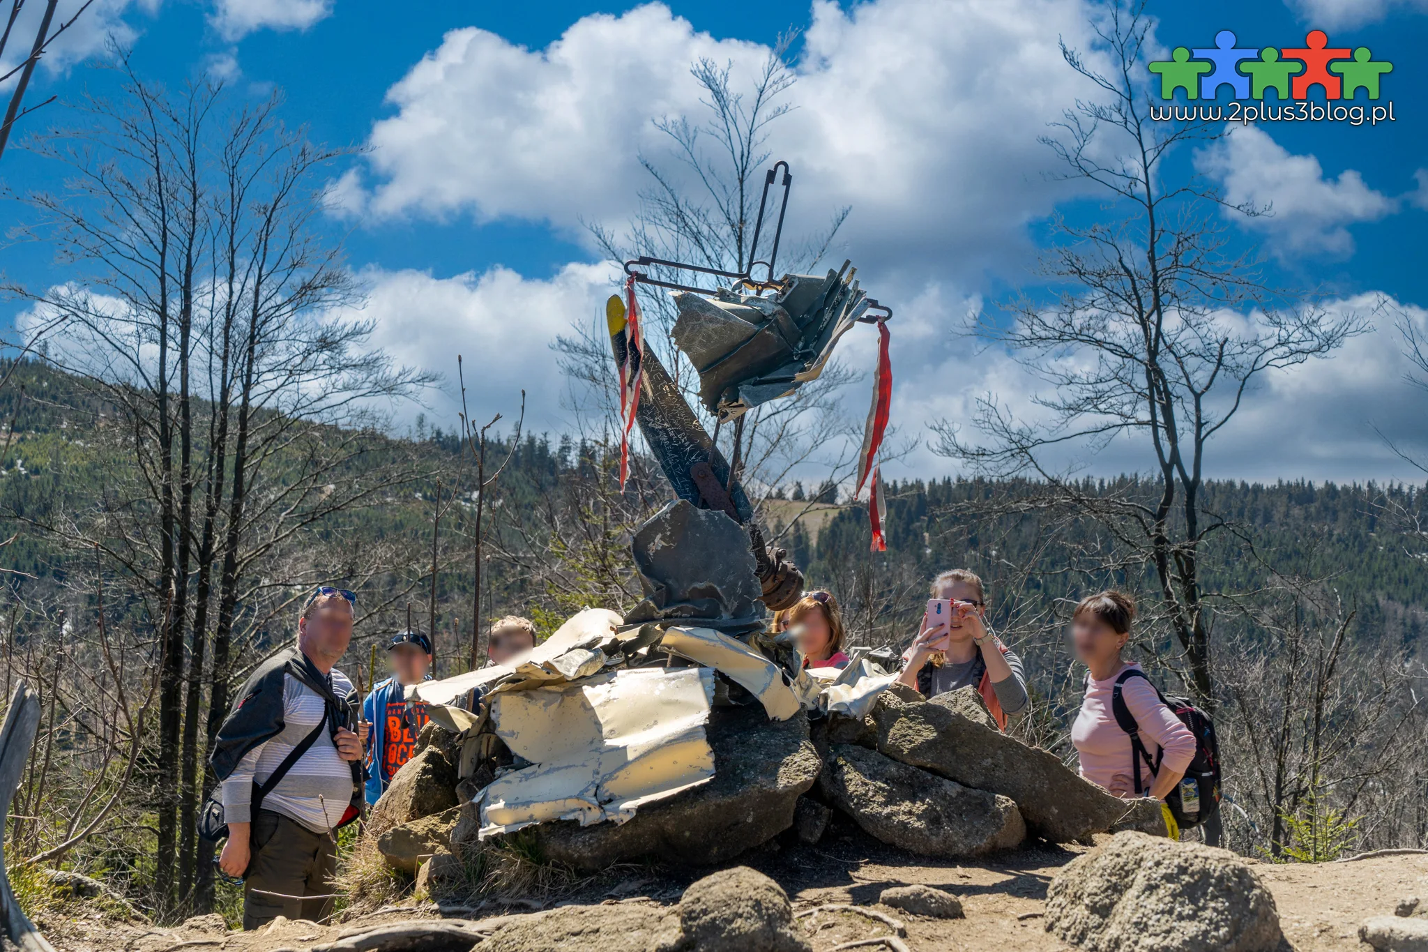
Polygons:
<instances>
[{"instance_id":1,"label":"tall bare tree at right, behind the woman in pink","mask_svg":"<svg viewBox=\"0 0 1428 952\"><path fill-rule=\"evenodd\" d=\"M1061 290L1050 300L1008 303L1010 320L972 321L972 334L1045 384L1031 412L987 395L967 421L977 435L962 421L942 421L934 448L977 472L1042 481L1045 494L1018 507L1064 507L1101 522L1114 540L1091 554L1102 577L1151 567L1158 621L1184 652L1190 688L1212 704L1200 559L1205 540L1227 525L1201 507L1205 454L1264 375L1332 354L1365 323L1268 287L1218 221L1222 211L1261 210L1228 208L1207 183L1167 164L1178 146L1221 131L1150 118L1144 4L1115 3L1092 29L1110 71L1065 46L1062 54L1105 101L1077 103L1044 141L1065 178L1098 190L1115 217L1088 224L1058 217L1042 273ZM1120 495L1088 492L1068 457L1112 440L1144 454L1150 482Z\"/></svg>"}]
</instances>

